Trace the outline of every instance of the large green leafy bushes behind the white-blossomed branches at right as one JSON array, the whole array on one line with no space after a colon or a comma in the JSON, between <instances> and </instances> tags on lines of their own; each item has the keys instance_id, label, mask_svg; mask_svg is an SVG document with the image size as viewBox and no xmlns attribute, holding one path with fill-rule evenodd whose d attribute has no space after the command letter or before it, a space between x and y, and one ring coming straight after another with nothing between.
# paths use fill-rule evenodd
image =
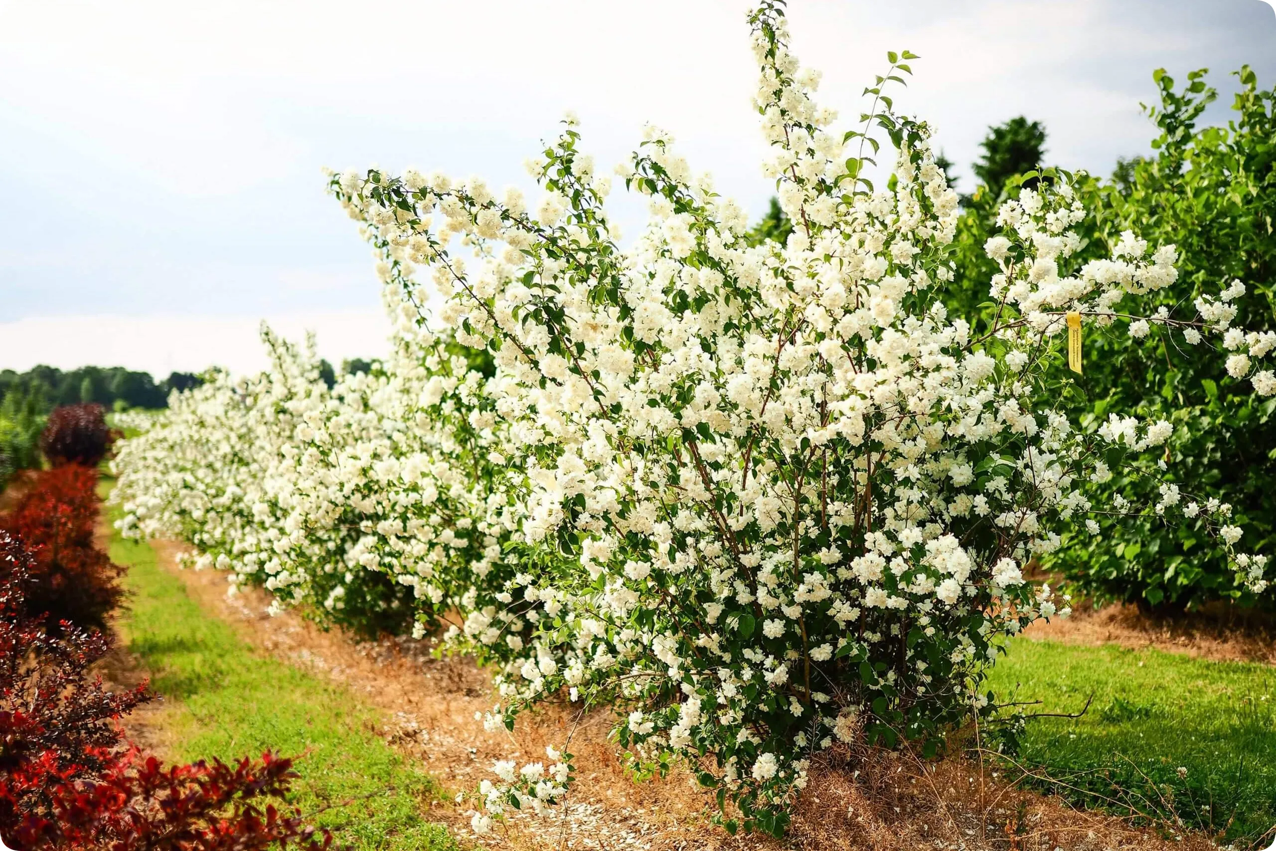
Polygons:
<instances>
[{"instance_id":1,"label":"large green leafy bushes behind the white-blossomed branches at right","mask_svg":"<svg viewBox=\"0 0 1276 851\"><path fill-rule=\"evenodd\" d=\"M1248 328L1262 330L1273 328L1276 286L1276 89L1259 89L1248 66L1235 75L1240 91L1222 126L1199 126L1217 97L1205 70L1188 74L1182 89L1164 70L1152 75L1160 94L1159 106L1145 107L1160 131L1152 154L1122 161L1111 179L1083 186L1087 207L1097 211L1086 236L1095 256L1125 230L1152 245L1176 245L1179 278L1159 293L1159 304L1171 311L1191 309L1198 296L1217 295L1240 281L1245 295L1235 301L1239 315ZM965 277L953 282L947 299L958 315L974 318L993 307L986 283L979 283L997 269L984 242L999 232L1000 204L1017 196L1022 185L1046 179L1042 175L1012 177L995 194L980 186L965 199L953 246L956 268ZM1165 457L1171 463L1164 472L1145 472L1194 496L1231 504L1245 532L1244 547L1271 552L1276 399L1243 389L1226 373L1225 360L1206 343L1191 347L1168 336L1134 339L1123 327L1104 333L1087 325L1083 375L1064 392L1074 401L1074 421L1090 430L1111 411L1175 424ZM1078 524L1064 535L1049 566L1099 598L1165 611L1217 598L1257 602L1234 582L1225 554L1203 524L1166 524L1151 510L1159 499L1155 478L1114 472L1101 487L1120 492L1145 517L1134 523L1128 517L1094 517L1097 533ZM1110 496L1095 501L1110 503Z\"/></svg>"}]
</instances>

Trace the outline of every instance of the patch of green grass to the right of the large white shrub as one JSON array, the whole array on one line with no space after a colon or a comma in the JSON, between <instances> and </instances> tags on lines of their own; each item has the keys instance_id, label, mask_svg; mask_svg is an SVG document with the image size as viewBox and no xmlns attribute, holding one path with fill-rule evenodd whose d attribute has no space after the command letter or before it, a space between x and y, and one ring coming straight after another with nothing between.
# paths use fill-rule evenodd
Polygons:
<instances>
[{"instance_id":1,"label":"patch of green grass to the right of the large white shrub","mask_svg":"<svg viewBox=\"0 0 1276 851\"><path fill-rule=\"evenodd\" d=\"M1042 700L1028 713L1076 713L1094 695L1082 717L1030 720L1020 737L1017 759L1053 791L1229 840L1276 823L1276 669L1021 638L990 685L1002 702Z\"/></svg>"}]
</instances>

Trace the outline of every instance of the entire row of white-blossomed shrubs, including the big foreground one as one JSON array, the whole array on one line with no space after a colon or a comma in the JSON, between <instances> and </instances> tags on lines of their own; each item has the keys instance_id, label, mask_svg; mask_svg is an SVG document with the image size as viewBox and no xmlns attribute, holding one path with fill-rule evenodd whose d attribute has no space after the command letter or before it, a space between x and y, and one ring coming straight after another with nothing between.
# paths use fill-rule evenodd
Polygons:
<instances>
[{"instance_id":1,"label":"entire row of white-blossomed shrubs, including the big foreground one","mask_svg":"<svg viewBox=\"0 0 1276 851\"><path fill-rule=\"evenodd\" d=\"M272 369L175 398L116 463L128 533L180 536L276 605L443 628L496 670L489 722L611 706L639 769L681 759L730 829L781 832L836 740L933 753L988 706L1004 637L1067 611L1023 575L1064 524L1192 518L1236 583L1267 579L1230 508L1157 463L1183 426L1064 413L1083 392L1062 366L1069 315L1212 341L1235 291L1146 310L1175 248L1125 232L1081 263L1087 211L1053 171L988 240L993 315L949 315L957 198L931 129L883 89L915 57L891 54L838 131L780 4L749 23L785 244L752 244L656 129L618 170L652 216L628 249L570 116L530 163L535 209L481 179L333 175L378 254L392 356L329 390L311 351L267 332ZM1271 394L1271 341L1228 339L1245 357L1229 369ZM1115 475L1160 477L1156 501L1096 501ZM550 759L498 763L476 829L560 799L570 755Z\"/></svg>"}]
</instances>

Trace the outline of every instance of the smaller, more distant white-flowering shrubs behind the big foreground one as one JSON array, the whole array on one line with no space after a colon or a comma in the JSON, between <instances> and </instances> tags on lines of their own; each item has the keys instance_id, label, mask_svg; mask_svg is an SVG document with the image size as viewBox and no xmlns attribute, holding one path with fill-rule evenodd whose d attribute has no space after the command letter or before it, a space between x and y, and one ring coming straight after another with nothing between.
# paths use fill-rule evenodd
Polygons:
<instances>
[{"instance_id":1,"label":"smaller, more distant white-flowering shrubs behind the big foreground one","mask_svg":"<svg viewBox=\"0 0 1276 851\"><path fill-rule=\"evenodd\" d=\"M397 310L398 291L388 296ZM454 342L404 327L380 369L332 390L313 352L263 329L268 371L174 394L161 427L120 445L124 532L179 535L200 550L197 568L230 572L232 587L264 586L364 632L413 618L424 632L464 610L456 628L518 643L532 621L475 587L503 588L513 524L510 499L470 463L490 464L499 443L484 376Z\"/></svg>"}]
</instances>

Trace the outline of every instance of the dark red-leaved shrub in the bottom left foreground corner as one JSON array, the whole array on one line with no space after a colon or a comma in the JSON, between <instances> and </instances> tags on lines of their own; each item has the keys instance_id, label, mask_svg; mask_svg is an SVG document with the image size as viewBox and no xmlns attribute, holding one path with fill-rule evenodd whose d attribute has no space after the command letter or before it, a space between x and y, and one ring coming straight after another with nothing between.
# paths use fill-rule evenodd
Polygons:
<instances>
[{"instance_id":1,"label":"dark red-leaved shrub in the bottom left foreground corner","mask_svg":"<svg viewBox=\"0 0 1276 851\"><path fill-rule=\"evenodd\" d=\"M267 753L165 768L122 745L120 716L145 686L112 694L88 669L110 638L73 624L52 635L31 614L33 559L0 532L0 837L19 851L256 851L332 845L296 810L281 813L296 777Z\"/></svg>"}]
</instances>

